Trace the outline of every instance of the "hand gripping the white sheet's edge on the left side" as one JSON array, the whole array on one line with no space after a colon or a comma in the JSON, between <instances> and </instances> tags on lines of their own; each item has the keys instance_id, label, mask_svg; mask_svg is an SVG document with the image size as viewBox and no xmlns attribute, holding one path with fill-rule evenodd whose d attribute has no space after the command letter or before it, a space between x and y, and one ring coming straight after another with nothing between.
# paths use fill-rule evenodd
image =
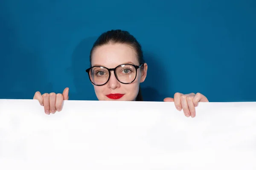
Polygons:
<instances>
[{"instance_id":1,"label":"hand gripping the white sheet's edge on the left side","mask_svg":"<svg viewBox=\"0 0 256 170\"><path fill-rule=\"evenodd\" d=\"M41 95L39 91L35 92L34 98L37 99L40 105L44 106L46 114L54 114L56 111L62 110L63 100L68 100L69 88L65 88L62 94L45 93Z\"/></svg>"}]
</instances>

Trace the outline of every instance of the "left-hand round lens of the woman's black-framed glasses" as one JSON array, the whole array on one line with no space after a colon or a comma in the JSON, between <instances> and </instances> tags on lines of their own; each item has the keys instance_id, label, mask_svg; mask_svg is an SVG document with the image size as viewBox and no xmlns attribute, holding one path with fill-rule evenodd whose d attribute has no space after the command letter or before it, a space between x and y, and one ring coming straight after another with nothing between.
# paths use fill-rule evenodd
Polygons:
<instances>
[{"instance_id":1,"label":"left-hand round lens of the woman's black-framed glasses","mask_svg":"<svg viewBox=\"0 0 256 170\"><path fill-rule=\"evenodd\" d=\"M95 85L103 85L108 81L109 72L104 67L93 67L89 72L90 79Z\"/></svg>"}]
</instances>

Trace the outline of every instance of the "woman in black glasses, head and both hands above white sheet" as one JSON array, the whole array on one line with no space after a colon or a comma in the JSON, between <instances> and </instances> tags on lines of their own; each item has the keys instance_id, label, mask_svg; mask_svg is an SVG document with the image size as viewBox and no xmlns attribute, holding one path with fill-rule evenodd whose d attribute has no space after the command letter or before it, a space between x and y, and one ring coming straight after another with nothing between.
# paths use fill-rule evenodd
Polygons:
<instances>
[{"instance_id":1,"label":"woman in black glasses, head and both hands above white sheet","mask_svg":"<svg viewBox=\"0 0 256 170\"><path fill-rule=\"evenodd\" d=\"M147 76L148 65L143 59L141 45L128 31L111 30L103 33L90 51L90 65L86 70L99 100L143 101L140 83ZM38 91L33 99L44 106L45 113L61 111L63 100L67 100L69 88L63 94ZM175 93L174 98L165 98L165 102L174 102L177 110L185 116L195 117L198 102L209 102L200 94Z\"/></svg>"}]
</instances>

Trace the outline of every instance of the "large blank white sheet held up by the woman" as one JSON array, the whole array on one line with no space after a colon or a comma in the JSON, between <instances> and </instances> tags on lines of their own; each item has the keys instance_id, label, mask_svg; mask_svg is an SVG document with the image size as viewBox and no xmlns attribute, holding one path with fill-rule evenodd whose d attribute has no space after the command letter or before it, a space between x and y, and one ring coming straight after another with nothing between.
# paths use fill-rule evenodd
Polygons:
<instances>
[{"instance_id":1,"label":"large blank white sheet held up by the woman","mask_svg":"<svg viewBox=\"0 0 256 170\"><path fill-rule=\"evenodd\" d=\"M0 99L0 169L256 170L256 102L200 103L187 118L173 102Z\"/></svg>"}]
</instances>

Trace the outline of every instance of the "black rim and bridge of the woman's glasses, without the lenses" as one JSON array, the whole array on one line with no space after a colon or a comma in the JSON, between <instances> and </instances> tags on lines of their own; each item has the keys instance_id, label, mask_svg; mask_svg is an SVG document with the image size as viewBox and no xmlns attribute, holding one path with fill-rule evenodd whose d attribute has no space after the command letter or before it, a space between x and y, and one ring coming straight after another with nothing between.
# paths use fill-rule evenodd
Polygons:
<instances>
[{"instance_id":1,"label":"black rim and bridge of the woman's glasses, without the lenses","mask_svg":"<svg viewBox=\"0 0 256 170\"><path fill-rule=\"evenodd\" d=\"M110 79L110 77L111 77L111 71L114 71L114 75L115 75L116 79L117 79L120 83L122 83L122 84L131 84L132 82L134 82L134 80L131 81L131 82L128 82L128 83L124 83L124 82L121 82L121 81L118 79L118 77L117 77L117 75L116 75L116 68L120 67L121 65L132 65L132 66L134 66L134 68L135 68L135 70L136 70L136 75L135 75L135 77L134 77L134 80L135 80L136 77L137 77L137 70L138 70L138 68L143 67L144 63L142 63L142 64L140 64L140 65L134 65L134 64L120 64L120 65L117 65L115 68L107 68L107 67L98 65L98 66L93 66L93 67L87 68L87 69L86 69L86 72L88 73L90 82L93 83L93 85L96 85L96 84L95 84L95 83L91 80L91 78L90 78L90 70L91 70L92 68L95 68L95 67L102 67L102 68L105 68L105 69L108 70L108 73L109 73L109 74L108 74L108 75L109 75L109 76L108 76L108 80L107 80L104 84L102 84L102 85L107 84L107 82L109 81L109 79ZM97 86L101 86L101 85L97 85Z\"/></svg>"}]
</instances>

